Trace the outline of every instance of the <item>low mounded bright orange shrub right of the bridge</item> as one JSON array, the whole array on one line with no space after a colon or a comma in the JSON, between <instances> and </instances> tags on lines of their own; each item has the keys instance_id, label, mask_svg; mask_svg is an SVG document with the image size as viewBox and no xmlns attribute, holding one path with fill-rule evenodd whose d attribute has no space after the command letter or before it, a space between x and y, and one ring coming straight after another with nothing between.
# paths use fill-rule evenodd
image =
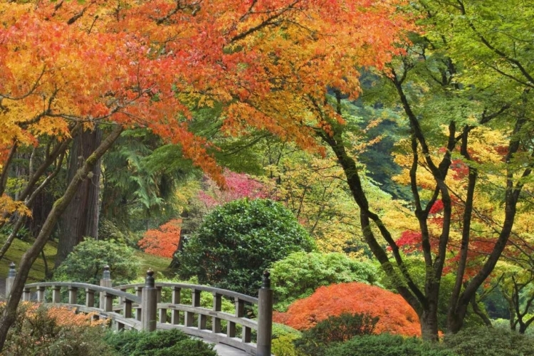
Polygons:
<instances>
[{"instance_id":1,"label":"low mounded bright orange shrub right of the bridge","mask_svg":"<svg viewBox=\"0 0 534 356\"><path fill-rule=\"evenodd\" d=\"M419 317L400 295L357 282L320 287L310 297L290 305L286 313L275 313L273 320L305 330L329 316L342 313L367 313L379 317L375 328L377 334L421 335Z\"/></svg>"}]
</instances>

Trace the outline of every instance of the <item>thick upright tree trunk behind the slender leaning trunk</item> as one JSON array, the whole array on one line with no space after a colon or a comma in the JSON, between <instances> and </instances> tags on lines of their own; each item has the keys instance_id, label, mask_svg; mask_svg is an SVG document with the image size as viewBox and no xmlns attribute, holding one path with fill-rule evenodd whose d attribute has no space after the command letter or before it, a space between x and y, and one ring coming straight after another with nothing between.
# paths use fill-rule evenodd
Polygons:
<instances>
[{"instance_id":1,"label":"thick upright tree trunk behind the slender leaning trunk","mask_svg":"<svg viewBox=\"0 0 534 356\"><path fill-rule=\"evenodd\" d=\"M102 141L102 130L98 127L93 132L85 131L73 140L68 162L68 182ZM59 221L60 234L56 267L58 267L74 247L83 240L83 236L98 239L98 197L100 193L100 160L78 187L74 198Z\"/></svg>"}]
</instances>

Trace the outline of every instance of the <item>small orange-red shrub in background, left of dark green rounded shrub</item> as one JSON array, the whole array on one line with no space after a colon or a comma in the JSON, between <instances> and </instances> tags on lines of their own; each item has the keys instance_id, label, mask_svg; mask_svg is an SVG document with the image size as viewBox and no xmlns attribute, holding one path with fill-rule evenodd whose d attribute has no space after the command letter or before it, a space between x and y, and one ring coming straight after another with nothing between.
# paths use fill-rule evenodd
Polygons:
<instances>
[{"instance_id":1,"label":"small orange-red shrub in background, left of dark green rounded shrub","mask_svg":"<svg viewBox=\"0 0 534 356\"><path fill-rule=\"evenodd\" d=\"M158 229L145 232L138 245L151 255L172 258L180 241L181 226L182 219L168 221Z\"/></svg>"}]
</instances>

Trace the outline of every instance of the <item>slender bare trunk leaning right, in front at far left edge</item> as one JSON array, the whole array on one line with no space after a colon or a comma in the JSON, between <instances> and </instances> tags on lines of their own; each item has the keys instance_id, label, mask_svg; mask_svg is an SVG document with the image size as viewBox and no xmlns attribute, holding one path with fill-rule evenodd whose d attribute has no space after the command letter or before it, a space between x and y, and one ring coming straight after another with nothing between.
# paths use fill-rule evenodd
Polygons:
<instances>
[{"instance_id":1,"label":"slender bare trunk leaning right, in front at far left edge","mask_svg":"<svg viewBox=\"0 0 534 356\"><path fill-rule=\"evenodd\" d=\"M78 169L74 179L68 184L63 196L57 199L53 204L52 210L50 211L50 214L48 214L48 217L46 218L43 228L39 232L36 241L30 248L28 248L28 251L23 254L21 263L19 265L19 272L17 273L13 286L11 287L11 294L9 295L6 307L4 308L0 319L0 352L4 348L9 328L11 328L11 325L13 325L16 319L16 309L19 306L19 301L21 300L24 284L28 279L31 265L36 258L38 258L39 253L41 253L41 250L46 245L46 242L48 241L54 226L56 226L59 217L67 209L68 204L73 199L75 192L78 190L78 185L85 180L89 172L91 172L95 164L97 164L100 157L102 157L104 153L111 147L113 142L117 140L117 137L120 136L121 132L122 127L116 126L110 135L108 135L108 137L106 137L105 140L103 140L103 142L98 146L95 152L93 152L93 155L90 155L90 157L85 160L85 164Z\"/></svg>"}]
</instances>

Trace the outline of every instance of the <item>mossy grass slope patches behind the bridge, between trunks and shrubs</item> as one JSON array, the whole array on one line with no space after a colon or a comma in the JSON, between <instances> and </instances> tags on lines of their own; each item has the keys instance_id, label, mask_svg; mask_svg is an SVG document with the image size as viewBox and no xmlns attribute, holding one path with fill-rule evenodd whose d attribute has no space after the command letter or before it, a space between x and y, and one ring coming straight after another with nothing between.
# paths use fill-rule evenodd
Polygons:
<instances>
[{"instance_id":1,"label":"mossy grass slope patches behind the bridge, between trunks and shrubs","mask_svg":"<svg viewBox=\"0 0 534 356\"><path fill-rule=\"evenodd\" d=\"M0 244L4 244L6 236L0 235ZM30 244L19 239L15 239L11 248L6 253L6 256L0 260L0 278L6 278L9 271L9 263L13 261L16 265L21 261L21 257L24 252L29 248ZM54 258L56 258L57 243L55 241L49 241L45 247L46 261L48 262L48 268L53 268ZM140 260L139 276L145 276L148 268L156 272L163 273L164 275L172 276L167 267L171 263L170 258L162 258L158 256L152 256L141 251L136 251L135 256ZM43 258L39 256L30 271L28 277L28 283L43 281L45 277L45 265Z\"/></svg>"}]
</instances>

